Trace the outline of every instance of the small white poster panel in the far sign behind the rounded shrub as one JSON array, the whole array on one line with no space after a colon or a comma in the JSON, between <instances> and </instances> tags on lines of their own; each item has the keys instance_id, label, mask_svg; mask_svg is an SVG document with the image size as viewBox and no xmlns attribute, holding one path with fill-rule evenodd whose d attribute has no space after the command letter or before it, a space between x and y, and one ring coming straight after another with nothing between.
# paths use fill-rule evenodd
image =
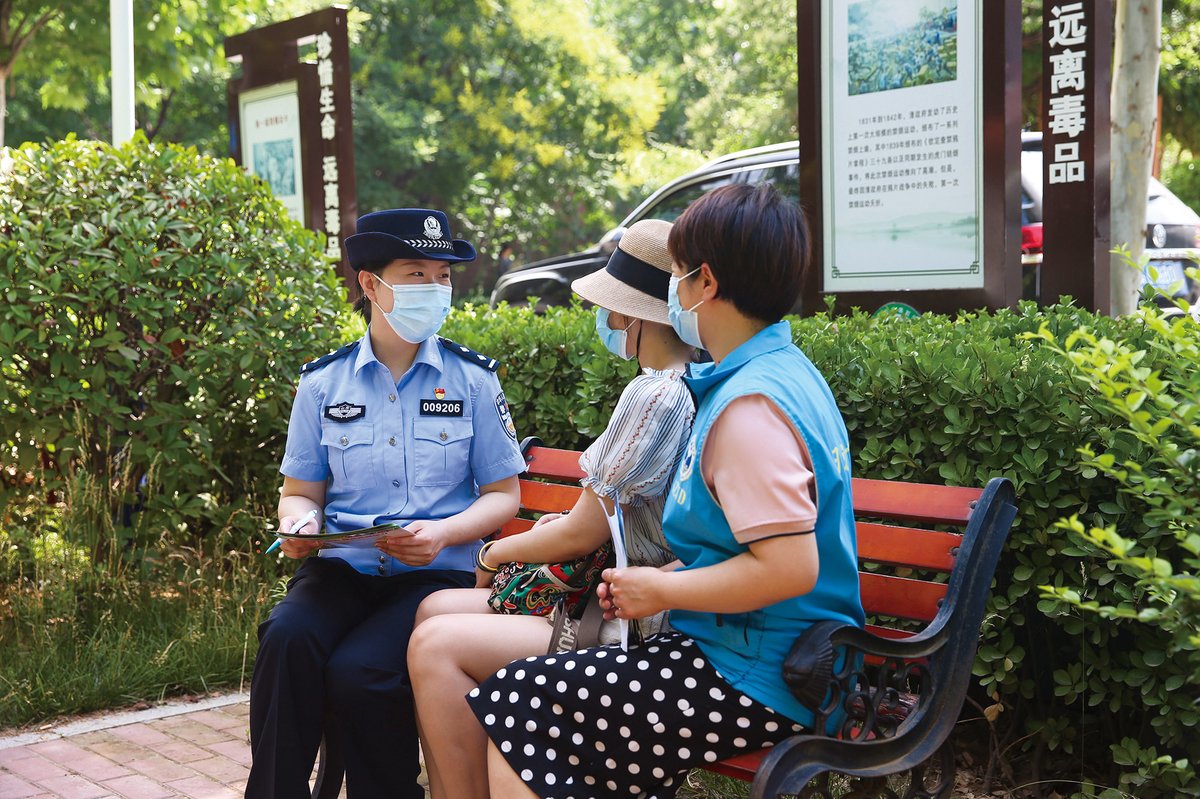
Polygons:
<instances>
[{"instance_id":1,"label":"small white poster panel in the far sign behind the rounded shrub","mask_svg":"<svg viewBox=\"0 0 1200 799\"><path fill-rule=\"evenodd\" d=\"M268 182L288 216L304 223L300 95L295 80L239 96L241 163Z\"/></svg>"}]
</instances>

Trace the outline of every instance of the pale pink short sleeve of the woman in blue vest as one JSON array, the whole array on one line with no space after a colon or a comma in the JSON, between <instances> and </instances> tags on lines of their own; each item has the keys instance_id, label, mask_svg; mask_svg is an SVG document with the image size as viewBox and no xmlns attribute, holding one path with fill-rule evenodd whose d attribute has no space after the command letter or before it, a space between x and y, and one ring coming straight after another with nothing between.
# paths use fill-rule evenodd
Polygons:
<instances>
[{"instance_id":1,"label":"pale pink short sleeve of the woman in blue vest","mask_svg":"<svg viewBox=\"0 0 1200 799\"><path fill-rule=\"evenodd\" d=\"M792 422L761 394L738 397L716 417L701 453L704 482L740 543L811 533L812 458Z\"/></svg>"}]
</instances>

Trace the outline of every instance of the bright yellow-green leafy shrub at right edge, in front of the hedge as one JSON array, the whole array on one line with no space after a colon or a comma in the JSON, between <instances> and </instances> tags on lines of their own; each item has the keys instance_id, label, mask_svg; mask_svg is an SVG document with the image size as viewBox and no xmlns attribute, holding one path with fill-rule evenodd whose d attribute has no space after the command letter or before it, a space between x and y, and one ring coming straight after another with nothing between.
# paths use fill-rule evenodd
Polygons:
<instances>
[{"instance_id":1,"label":"bright yellow-green leafy shrub at right edge, in front of the hedge","mask_svg":"<svg viewBox=\"0 0 1200 799\"><path fill-rule=\"evenodd\" d=\"M1200 329L1180 314L1152 316L1146 349L1081 329L1064 340L1040 338L1076 367L1081 380L1123 421L1104 451L1081 447L1085 463L1121 485L1141 510L1142 524L1085 527L1076 517L1061 530L1104 553L1096 582L1045 585L1046 607L1079 608L1114 623L1150 626L1156 647L1140 653L1133 673L1153 709L1151 723L1168 751L1126 738L1114 759L1130 767L1120 789L1134 795L1200 795L1196 750L1188 751L1200 722ZM1110 589L1102 588L1106 581ZM1158 633L1157 636L1153 633ZM1183 752L1188 757L1172 757ZM1190 758L1190 759L1189 759ZM1152 793L1147 793L1147 789ZM1104 795L1104 794L1102 794ZM1111 791L1111 797L1121 795Z\"/></svg>"}]
</instances>

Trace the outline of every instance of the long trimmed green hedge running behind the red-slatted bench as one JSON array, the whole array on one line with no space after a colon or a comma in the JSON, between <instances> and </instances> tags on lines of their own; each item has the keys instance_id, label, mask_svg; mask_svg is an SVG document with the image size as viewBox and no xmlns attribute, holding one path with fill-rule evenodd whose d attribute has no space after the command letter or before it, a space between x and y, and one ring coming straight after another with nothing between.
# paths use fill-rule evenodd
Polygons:
<instances>
[{"instance_id":1,"label":"long trimmed green hedge running behind the red-slatted bench","mask_svg":"<svg viewBox=\"0 0 1200 799\"><path fill-rule=\"evenodd\" d=\"M545 317L528 308L467 308L445 332L505 361L502 380L521 435L576 447L602 429L636 368L604 352L593 324L577 307ZM1135 349L1147 349L1154 335L1136 318L1032 304L958 319L792 320L797 344L841 405L858 476L968 486L1007 476L1016 487L1020 512L976 662L977 693L992 705L997 739L1025 740L1007 756L1028 765L1055 753L1087 753L1102 782L1118 776L1105 774L1114 761L1138 768L1169 752L1195 763L1200 746L1190 733L1200 719L1193 703L1200 678L1164 663L1166 636L1044 600L1038 606L1039 585L1082 584L1091 599L1112 603L1136 593L1105 558L1055 529L1060 518L1078 513L1134 537L1146 529L1138 497L1121 493L1078 451L1091 443L1136 458L1138 443L1121 433L1121 420L1066 359L1025 337L1043 324L1060 340L1086 325ZM1156 350L1142 366L1156 358L1168 360ZM1121 744L1127 738L1138 743L1133 753L1128 740ZM1153 780L1140 791L1175 795L1166 783L1154 793Z\"/></svg>"}]
</instances>

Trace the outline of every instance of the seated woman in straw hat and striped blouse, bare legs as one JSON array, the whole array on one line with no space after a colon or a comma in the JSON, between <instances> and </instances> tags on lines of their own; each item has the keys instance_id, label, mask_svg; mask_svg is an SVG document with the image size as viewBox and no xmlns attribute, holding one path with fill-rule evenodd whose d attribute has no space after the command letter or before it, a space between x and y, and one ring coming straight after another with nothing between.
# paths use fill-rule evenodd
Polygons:
<instances>
[{"instance_id":1,"label":"seated woman in straw hat and striped blouse, bare legs","mask_svg":"<svg viewBox=\"0 0 1200 799\"><path fill-rule=\"evenodd\" d=\"M631 226L607 266L571 288L596 306L596 332L617 358L637 359L641 373L622 392L604 433L580 458L584 492L570 512L539 519L534 529L490 542L478 566L496 572L505 563L572 560L608 541L599 498L623 512L629 563L678 565L662 537L662 506L691 429L695 408L683 383L694 349L667 319L671 223ZM487 797L487 738L466 695L496 669L551 650L545 617L499 614L487 589L443 590L422 602L409 645L430 791L443 797ZM616 639L616 623L601 641ZM641 619L641 635L666 629L666 614Z\"/></svg>"}]
</instances>

